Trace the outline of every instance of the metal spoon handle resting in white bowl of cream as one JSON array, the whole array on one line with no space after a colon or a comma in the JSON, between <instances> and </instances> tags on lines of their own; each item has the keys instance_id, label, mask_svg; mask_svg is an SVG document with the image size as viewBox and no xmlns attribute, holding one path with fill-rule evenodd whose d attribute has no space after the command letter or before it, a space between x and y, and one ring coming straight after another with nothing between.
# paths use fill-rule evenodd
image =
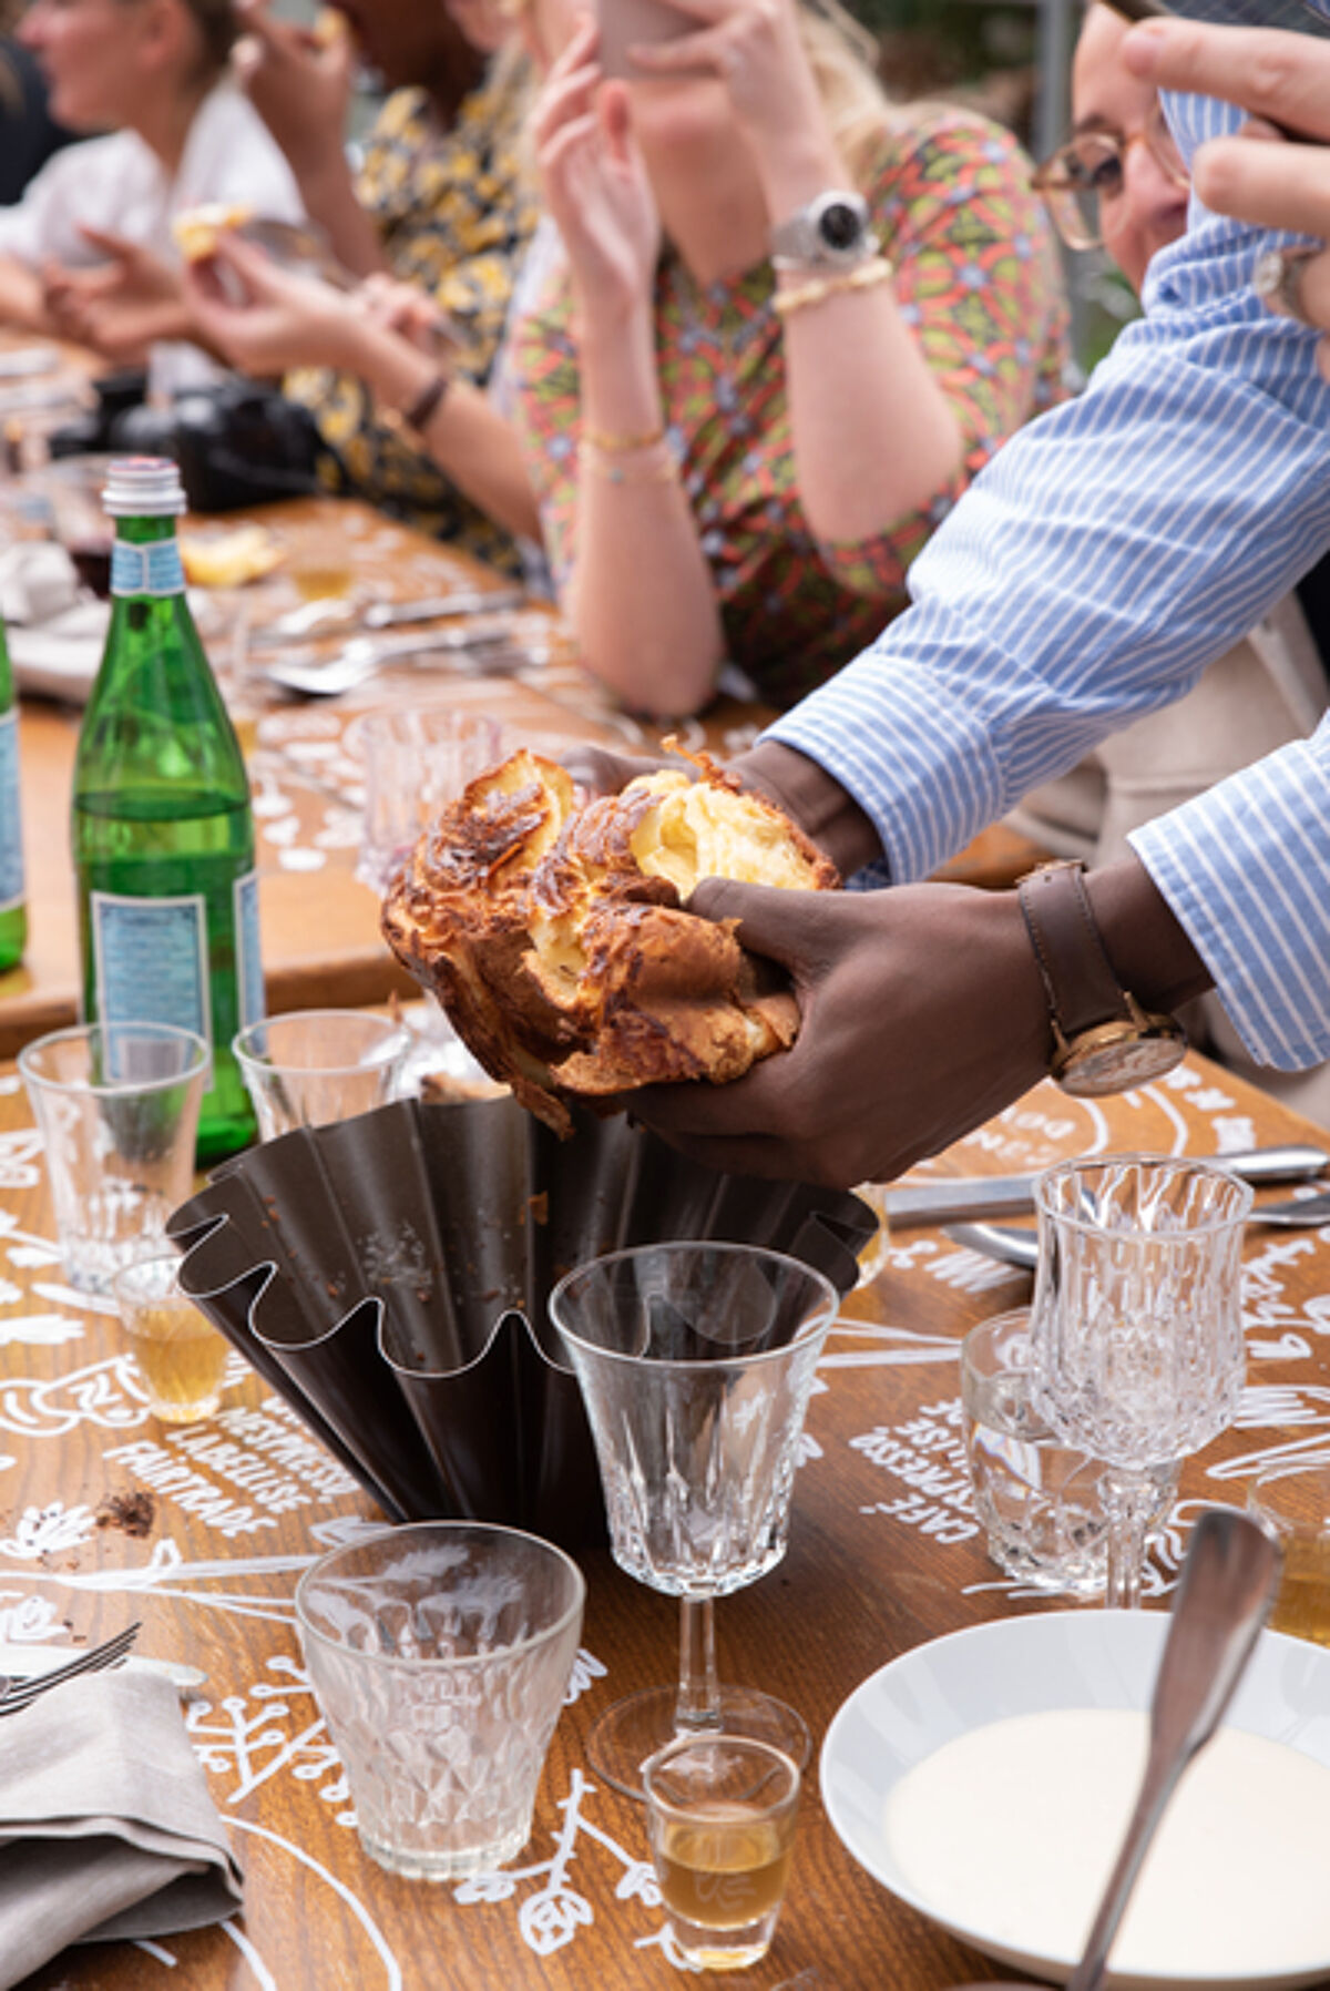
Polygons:
<instances>
[{"instance_id":1,"label":"metal spoon handle resting in white bowl of cream","mask_svg":"<svg viewBox=\"0 0 1330 1991\"><path fill-rule=\"evenodd\" d=\"M1067 1991L1097 1991L1145 1854L1177 1782L1232 1700L1278 1585L1280 1549L1258 1521L1211 1507L1193 1529L1151 1700L1151 1746L1127 1836ZM984 1981L958 1991L1039 1991Z\"/></svg>"}]
</instances>

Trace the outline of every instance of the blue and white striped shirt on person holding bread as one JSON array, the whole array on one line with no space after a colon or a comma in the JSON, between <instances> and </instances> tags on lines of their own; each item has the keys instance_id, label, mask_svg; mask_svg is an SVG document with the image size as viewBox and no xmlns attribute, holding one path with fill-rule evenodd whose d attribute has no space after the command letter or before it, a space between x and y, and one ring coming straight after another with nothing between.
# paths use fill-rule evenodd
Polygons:
<instances>
[{"instance_id":1,"label":"blue and white striped shirt on person holding bread","mask_svg":"<svg viewBox=\"0 0 1330 1991\"><path fill-rule=\"evenodd\" d=\"M1238 121L1201 98L1169 117L1185 153ZM1288 241L1193 203L1085 394L998 452L916 559L914 605L767 735L874 822L864 882L924 878L1181 697L1330 550L1316 334L1250 289ZM1330 1057L1330 719L1131 840L1250 1053Z\"/></svg>"}]
</instances>

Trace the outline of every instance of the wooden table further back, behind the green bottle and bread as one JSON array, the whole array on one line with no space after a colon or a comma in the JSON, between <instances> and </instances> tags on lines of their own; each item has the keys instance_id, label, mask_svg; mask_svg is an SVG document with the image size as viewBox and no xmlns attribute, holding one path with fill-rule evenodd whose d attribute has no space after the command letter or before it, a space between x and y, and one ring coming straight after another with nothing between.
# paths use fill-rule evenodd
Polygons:
<instances>
[{"instance_id":1,"label":"wooden table further back, behind the green bottle and bread","mask_svg":"<svg viewBox=\"0 0 1330 1991\"><path fill-rule=\"evenodd\" d=\"M512 745L530 741L557 753L571 739L625 751L653 751L657 733L639 727L577 667L550 611L536 607L518 633L532 661L506 677L476 677L442 661L396 667L344 699L291 703L263 679L275 651L251 645L235 669L235 613L251 629L301 601L305 569L348 559L354 587L370 599L424 599L492 587L496 577L456 550L382 518L352 500L303 498L261 512L211 520L203 530L261 520L283 544L285 561L243 593L231 591L205 637L231 701L255 784L259 828L259 916L269 1009L307 1009L386 1001L416 994L378 936L378 902L354 878L360 840L360 767L342 751L356 713L374 705L428 699L476 705L504 723ZM329 647L344 639L338 631ZM538 639L538 641L536 641ZM699 723L677 731L691 747L737 753L769 717L757 707L721 701ZM28 858L28 952L0 976L0 1057L12 1057L46 1029L78 1015L78 942L70 868L70 776L80 713L44 699L24 699L20 715L24 844Z\"/></svg>"}]
</instances>

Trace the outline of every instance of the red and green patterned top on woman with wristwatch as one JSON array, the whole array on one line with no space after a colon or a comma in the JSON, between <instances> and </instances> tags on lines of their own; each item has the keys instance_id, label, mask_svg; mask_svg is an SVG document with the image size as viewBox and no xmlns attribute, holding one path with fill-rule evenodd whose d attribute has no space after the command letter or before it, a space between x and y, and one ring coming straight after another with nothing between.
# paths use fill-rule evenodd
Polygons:
<instances>
[{"instance_id":1,"label":"red and green patterned top on woman with wristwatch","mask_svg":"<svg viewBox=\"0 0 1330 1991\"><path fill-rule=\"evenodd\" d=\"M884 133L864 187L896 301L946 388L964 468L922 512L854 544L814 540L794 490L775 275L701 289L677 257L655 285L665 420L729 657L792 705L906 605L906 567L998 444L1061 394L1065 307L1029 161L988 119L930 108ZM571 299L518 329L520 420L559 589L573 561L579 378Z\"/></svg>"}]
</instances>

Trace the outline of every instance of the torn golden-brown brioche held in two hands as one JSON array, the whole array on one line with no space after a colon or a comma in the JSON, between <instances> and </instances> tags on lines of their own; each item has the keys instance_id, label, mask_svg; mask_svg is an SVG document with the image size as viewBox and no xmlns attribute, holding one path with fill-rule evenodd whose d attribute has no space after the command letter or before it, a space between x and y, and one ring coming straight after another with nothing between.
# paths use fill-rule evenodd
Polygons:
<instances>
[{"instance_id":1,"label":"torn golden-brown brioche held in two hands","mask_svg":"<svg viewBox=\"0 0 1330 1991\"><path fill-rule=\"evenodd\" d=\"M516 753L474 780L394 878L382 930L474 1057L557 1133L565 1097L743 1077L798 1033L737 922L685 912L701 878L834 890L836 868L707 755L577 806Z\"/></svg>"}]
</instances>

